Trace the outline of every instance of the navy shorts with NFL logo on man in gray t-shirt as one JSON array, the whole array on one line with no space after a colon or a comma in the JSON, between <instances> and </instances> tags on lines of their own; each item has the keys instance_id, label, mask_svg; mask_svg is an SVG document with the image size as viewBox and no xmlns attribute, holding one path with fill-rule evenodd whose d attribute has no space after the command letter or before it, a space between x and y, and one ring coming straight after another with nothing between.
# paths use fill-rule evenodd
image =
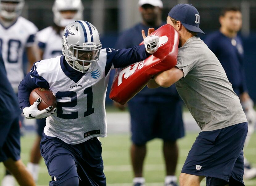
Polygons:
<instances>
[{"instance_id":1,"label":"navy shorts with NFL logo on man in gray t-shirt","mask_svg":"<svg viewBox=\"0 0 256 186\"><path fill-rule=\"evenodd\" d=\"M206 176L207 186L243 186L243 147L248 123L200 132L182 173Z\"/></svg>"}]
</instances>

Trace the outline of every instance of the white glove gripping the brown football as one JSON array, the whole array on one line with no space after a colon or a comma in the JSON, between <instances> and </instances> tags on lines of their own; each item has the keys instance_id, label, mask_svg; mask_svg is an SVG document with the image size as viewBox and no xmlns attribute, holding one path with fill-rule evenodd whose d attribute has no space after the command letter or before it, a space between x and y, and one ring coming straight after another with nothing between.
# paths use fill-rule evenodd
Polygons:
<instances>
[{"instance_id":1,"label":"white glove gripping the brown football","mask_svg":"<svg viewBox=\"0 0 256 186\"><path fill-rule=\"evenodd\" d=\"M35 100L33 105L31 105L30 107L23 108L23 113L27 119L42 119L54 114L54 112L56 111L56 108L51 110L52 106L44 110L38 110L37 106L40 102L41 102L41 99L38 98L37 100Z\"/></svg>"}]
</instances>

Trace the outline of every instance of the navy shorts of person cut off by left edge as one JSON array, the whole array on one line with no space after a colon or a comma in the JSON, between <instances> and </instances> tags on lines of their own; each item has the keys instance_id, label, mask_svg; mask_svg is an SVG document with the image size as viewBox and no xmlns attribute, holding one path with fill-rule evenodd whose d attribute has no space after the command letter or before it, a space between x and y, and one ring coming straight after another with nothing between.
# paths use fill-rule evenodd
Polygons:
<instances>
[{"instance_id":1,"label":"navy shorts of person cut off by left edge","mask_svg":"<svg viewBox=\"0 0 256 186\"><path fill-rule=\"evenodd\" d=\"M0 162L20 159L19 116L0 121Z\"/></svg>"}]
</instances>

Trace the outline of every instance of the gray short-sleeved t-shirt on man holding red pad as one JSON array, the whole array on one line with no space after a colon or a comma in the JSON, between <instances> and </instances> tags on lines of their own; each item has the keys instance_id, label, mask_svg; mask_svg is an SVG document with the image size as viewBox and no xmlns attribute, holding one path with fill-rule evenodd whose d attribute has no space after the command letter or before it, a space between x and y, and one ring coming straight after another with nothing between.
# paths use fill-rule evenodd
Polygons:
<instances>
[{"instance_id":1,"label":"gray short-sleeved t-shirt on man holding red pad","mask_svg":"<svg viewBox=\"0 0 256 186\"><path fill-rule=\"evenodd\" d=\"M199 37L179 48L176 67L184 72L175 83L177 91L201 130L247 121L221 63Z\"/></svg>"}]
</instances>

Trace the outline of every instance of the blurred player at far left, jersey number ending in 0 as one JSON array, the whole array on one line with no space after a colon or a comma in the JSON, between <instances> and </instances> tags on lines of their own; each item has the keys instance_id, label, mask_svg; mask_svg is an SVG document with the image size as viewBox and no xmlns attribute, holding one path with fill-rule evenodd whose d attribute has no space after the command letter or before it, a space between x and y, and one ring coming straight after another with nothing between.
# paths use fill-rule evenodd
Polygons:
<instances>
[{"instance_id":1,"label":"blurred player at far left, jersey number ending in 0","mask_svg":"<svg viewBox=\"0 0 256 186\"><path fill-rule=\"evenodd\" d=\"M0 1L0 48L7 77L16 94L19 83L24 78L24 51L27 52L29 70L32 64L39 60L39 50L34 42L38 29L32 22L20 16L23 6L24 0ZM2 185L6 185L5 182L14 185L14 178L7 175L2 180Z\"/></svg>"}]
</instances>

